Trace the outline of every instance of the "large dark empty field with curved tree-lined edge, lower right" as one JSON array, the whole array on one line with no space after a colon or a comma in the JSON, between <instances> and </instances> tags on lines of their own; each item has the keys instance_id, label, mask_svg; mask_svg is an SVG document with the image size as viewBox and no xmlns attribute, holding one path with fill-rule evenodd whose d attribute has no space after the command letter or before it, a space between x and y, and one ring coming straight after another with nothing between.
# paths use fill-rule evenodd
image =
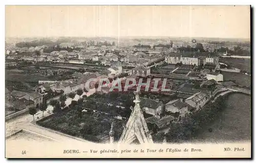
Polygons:
<instances>
[{"instance_id":1,"label":"large dark empty field with curved tree-lined edge, lower right","mask_svg":"<svg viewBox=\"0 0 256 163\"><path fill-rule=\"evenodd\" d=\"M215 120L202 129L192 142L238 142L251 139L251 97L231 94L226 100L226 109ZM212 132L208 129L211 128Z\"/></svg>"}]
</instances>

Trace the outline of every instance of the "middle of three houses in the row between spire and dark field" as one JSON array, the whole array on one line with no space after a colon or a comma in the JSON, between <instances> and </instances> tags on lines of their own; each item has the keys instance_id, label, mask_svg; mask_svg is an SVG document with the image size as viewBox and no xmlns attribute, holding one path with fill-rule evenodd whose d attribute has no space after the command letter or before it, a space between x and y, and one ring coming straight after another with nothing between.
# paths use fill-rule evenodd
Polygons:
<instances>
[{"instance_id":1,"label":"middle of three houses in the row between spire and dark field","mask_svg":"<svg viewBox=\"0 0 256 163\"><path fill-rule=\"evenodd\" d=\"M165 104L165 112L179 113L179 120L188 115L189 105L183 99L176 99Z\"/></svg>"}]
</instances>

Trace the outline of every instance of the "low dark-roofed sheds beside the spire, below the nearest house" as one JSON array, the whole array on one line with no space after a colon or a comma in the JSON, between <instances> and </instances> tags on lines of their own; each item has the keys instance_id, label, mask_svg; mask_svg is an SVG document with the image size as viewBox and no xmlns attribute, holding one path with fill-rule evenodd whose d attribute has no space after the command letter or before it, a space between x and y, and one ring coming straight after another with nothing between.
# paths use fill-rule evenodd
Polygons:
<instances>
[{"instance_id":1,"label":"low dark-roofed sheds beside the spire, below the nearest house","mask_svg":"<svg viewBox=\"0 0 256 163\"><path fill-rule=\"evenodd\" d=\"M170 115L167 115L165 117L160 117L160 118L153 116L153 117L146 118L145 121L147 123L147 126L157 127L158 129L162 129L172 124L175 121L175 118Z\"/></svg>"}]
</instances>

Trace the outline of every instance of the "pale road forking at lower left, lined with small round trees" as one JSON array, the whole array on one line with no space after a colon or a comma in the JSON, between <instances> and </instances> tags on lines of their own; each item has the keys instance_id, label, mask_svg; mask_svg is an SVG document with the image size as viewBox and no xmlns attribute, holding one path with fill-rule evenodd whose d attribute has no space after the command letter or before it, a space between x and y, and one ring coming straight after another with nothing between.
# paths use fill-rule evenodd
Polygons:
<instances>
[{"instance_id":1,"label":"pale road forking at lower left, lined with small round trees","mask_svg":"<svg viewBox=\"0 0 256 163\"><path fill-rule=\"evenodd\" d=\"M90 95L94 94L94 92L95 92L95 90L91 90L91 91L87 92L87 94L83 92L83 95L90 96ZM76 95L74 100L77 101L78 99L79 99L79 96ZM66 105L71 104L71 101L72 101L72 99L68 98L66 101ZM49 110L49 112L48 112L48 110ZM47 115L52 114L52 110L53 110L53 107L49 105L47 108L47 111L44 112L44 116L46 117ZM38 111L34 117L35 117L35 119L37 117L41 118L42 112ZM63 142L66 142L66 141L76 141L77 142L78 141L75 138L72 138L72 137L69 137L66 135L62 135L59 133L55 133L53 130L45 129L40 126L34 125L34 124L30 123L31 121L33 121L33 116L30 115L29 113L19 115L18 117L14 118L14 119L6 121L5 122L6 136L11 134L13 132L13 130L26 129L26 130L29 130L29 131L53 138L53 139L57 139L60 142L62 142L62 141Z\"/></svg>"}]
</instances>

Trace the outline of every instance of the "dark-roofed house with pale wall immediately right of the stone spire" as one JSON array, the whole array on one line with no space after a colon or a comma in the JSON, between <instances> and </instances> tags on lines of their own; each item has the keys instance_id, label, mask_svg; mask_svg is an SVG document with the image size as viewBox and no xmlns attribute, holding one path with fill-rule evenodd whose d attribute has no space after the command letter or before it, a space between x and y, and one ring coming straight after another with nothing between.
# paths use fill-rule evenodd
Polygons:
<instances>
[{"instance_id":1,"label":"dark-roofed house with pale wall immediately right of the stone spire","mask_svg":"<svg viewBox=\"0 0 256 163\"><path fill-rule=\"evenodd\" d=\"M162 115L164 113L164 104L158 99L140 98L140 106L147 114Z\"/></svg>"}]
</instances>

